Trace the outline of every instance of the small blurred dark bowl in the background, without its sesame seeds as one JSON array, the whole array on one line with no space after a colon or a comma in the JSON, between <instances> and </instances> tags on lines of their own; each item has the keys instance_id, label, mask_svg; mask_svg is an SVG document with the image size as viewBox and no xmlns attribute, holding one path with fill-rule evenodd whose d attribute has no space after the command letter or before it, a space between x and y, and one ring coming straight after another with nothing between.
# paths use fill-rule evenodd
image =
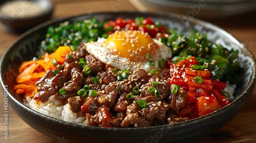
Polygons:
<instances>
[{"instance_id":1,"label":"small blurred dark bowl in the background, without its sesame seeds","mask_svg":"<svg viewBox=\"0 0 256 143\"><path fill-rule=\"evenodd\" d=\"M33 2L42 8L42 11L33 16L27 17L18 17L10 16L1 11L1 7L5 4L10 3L11 1L5 1L0 5L0 21L3 23L4 29L9 32L25 32L30 28L39 25L42 22L45 22L51 18L53 13L54 5L50 0L28 0ZM20 11L26 10L28 7L20 6ZM18 12L20 12L18 11ZM17 12L17 11L16 11Z\"/></svg>"}]
</instances>

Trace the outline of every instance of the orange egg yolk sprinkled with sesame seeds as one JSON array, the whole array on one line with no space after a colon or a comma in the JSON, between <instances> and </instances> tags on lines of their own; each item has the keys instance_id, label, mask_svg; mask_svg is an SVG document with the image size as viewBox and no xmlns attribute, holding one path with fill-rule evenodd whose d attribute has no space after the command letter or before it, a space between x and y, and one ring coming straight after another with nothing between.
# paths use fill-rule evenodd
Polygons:
<instances>
[{"instance_id":1,"label":"orange egg yolk sprinkled with sesame seeds","mask_svg":"<svg viewBox=\"0 0 256 143\"><path fill-rule=\"evenodd\" d=\"M141 31L117 31L106 39L106 45L115 55L131 62L144 62L147 53L154 55L159 51L150 35Z\"/></svg>"}]
</instances>

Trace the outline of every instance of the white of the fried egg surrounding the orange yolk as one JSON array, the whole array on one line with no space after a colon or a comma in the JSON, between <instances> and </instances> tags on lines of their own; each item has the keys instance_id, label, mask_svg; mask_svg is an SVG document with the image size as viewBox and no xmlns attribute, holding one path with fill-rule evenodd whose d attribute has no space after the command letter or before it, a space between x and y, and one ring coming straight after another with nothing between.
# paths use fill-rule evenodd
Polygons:
<instances>
[{"instance_id":1,"label":"white of the fried egg surrounding the orange yolk","mask_svg":"<svg viewBox=\"0 0 256 143\"><path fill-rule=\"evenodd\" d=\"M165 60L167 58L172 57L172 50L160 42L157 39L154 39L154 42L157 43L159 46L159 51L156 52L156 54L151 55L151 60L155 61L155 65L151 66L149 62L146 61L146 59L141 59L140 62L131 62L129 59L130 58L125 58L125 57L120 57L119 55L116 55L114 51L109 50L105 44L106 39L105 38L98 38L96 42L88 42L88 43L83 43L84 47L86 48L86 51L89 52L90 54L94 55L94 57L101 62L111 65L112 67L118 67L120 69L128 69L131 72L136 70L137 68L143 68L147 71L147 73L150 73L152 69L158 69L158 61L162 58Z\"/></svg>"}]
</instances>

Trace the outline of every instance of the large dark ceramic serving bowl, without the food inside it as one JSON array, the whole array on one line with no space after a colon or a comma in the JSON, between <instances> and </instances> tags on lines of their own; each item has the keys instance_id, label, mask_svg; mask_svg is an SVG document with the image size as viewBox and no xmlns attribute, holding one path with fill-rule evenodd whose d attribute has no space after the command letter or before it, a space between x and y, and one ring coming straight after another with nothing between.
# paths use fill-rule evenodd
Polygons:
<instances>
[{"instance_id":1,"label":"large dark ceramic serving bowl, without the food inside it","mask_svg":"<svg viewBox=\"0 0 256 143\"><path fill-rule=\"evenodd\" d=\"M208 115L174 125L162 125L143 128L101 128L80 126L57 120L38 113L23 104L22 96L15 93L13 85L19 65L31 60L37 51L37 45L45 39L47 28L66 20L74 21L94 16L99 21L114 20L117 17L152 17L169 28L185 32L195 28L207 32L209 40L223 44L229 49L240 51L240 63L244 65L241 86L234 93L235 99L224 108ZM159 15L149 13L97 13L52 20L34 27L20 36L10 45L1 60L1 84L8 101L24 122L42 134L56 138L60 142L187 142L196 140L228 124L248 101L255 86L255 59L251 52L226 31L198 19L182 19L176 14Z\"/></svg>"}]
</instances>

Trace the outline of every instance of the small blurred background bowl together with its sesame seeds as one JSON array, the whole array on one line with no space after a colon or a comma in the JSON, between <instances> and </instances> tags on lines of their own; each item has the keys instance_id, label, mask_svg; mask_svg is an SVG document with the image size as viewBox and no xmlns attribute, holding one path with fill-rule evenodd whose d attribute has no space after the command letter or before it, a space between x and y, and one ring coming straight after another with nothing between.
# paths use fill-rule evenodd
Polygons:
<instances>
[{"instance_id":1,"label":"small blurred background bowl together with its sesame seeds","mask_svg":"<svg viewBox=\"0 0 256 143\"><path fill-rule=\"evenodd\" d=\"M25 32L50 19L53 3L48 0L11 0L0 5L0 21L9 32Z\"/></svg>"}]
</instances>

